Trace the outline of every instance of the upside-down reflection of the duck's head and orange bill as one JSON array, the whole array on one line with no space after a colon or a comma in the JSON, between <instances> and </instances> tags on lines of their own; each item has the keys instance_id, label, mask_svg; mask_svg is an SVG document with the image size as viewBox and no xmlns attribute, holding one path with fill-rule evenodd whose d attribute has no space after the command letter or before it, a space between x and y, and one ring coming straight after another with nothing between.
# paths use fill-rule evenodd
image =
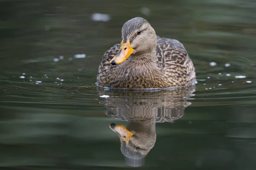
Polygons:
<instances>
[{"instance_id":1,"label":"upside-down reflection of the duck's head and orange bill","mask_svg":"<svg viewBox=\"0 0 256 170\"><path fill-rule=\"evenodd\" d=\"M121 152L126 158L126 164L133 167L142 166L145 156L154 147L156 133L130 131L125 126L114 123L109 127L120 137Z\"/></svg>"}]
</instances>

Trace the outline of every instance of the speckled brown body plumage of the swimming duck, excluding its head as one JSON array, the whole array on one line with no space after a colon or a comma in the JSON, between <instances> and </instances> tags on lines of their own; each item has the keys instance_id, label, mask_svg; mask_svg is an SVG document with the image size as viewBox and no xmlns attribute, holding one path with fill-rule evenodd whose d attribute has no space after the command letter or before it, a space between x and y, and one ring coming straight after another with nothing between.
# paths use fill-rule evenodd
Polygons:
<instances>
[{"instance_id":1,"label":"speckled brown body plumage of the swimming duck, excluding its head","mask_svg":"<svg viewBox=\"0 0 256 170\"><path fill-rule=\"evenodd\" d=\"M154 58L143 57L146 54L140 57L132 54L122 64L111 65L109 62L119 48L120 44L116 44L105 52L97 75L99 86L126 89L168 88L188 86L195 82L192 60L183 44L177 40L157 36Z\"/></svg>"}]
</instances>

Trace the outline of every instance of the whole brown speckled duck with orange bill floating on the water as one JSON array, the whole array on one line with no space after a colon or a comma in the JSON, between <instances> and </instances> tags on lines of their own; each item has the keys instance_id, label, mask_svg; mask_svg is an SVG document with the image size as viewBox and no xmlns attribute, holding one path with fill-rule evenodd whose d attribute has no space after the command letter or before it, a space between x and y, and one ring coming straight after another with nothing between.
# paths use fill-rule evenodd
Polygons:
<instances>
[{"instance_id":1,"label":"whole brown speckled duck with orange bill floating on the water","mask_svg":"<svg viewBox=\"0 0 256 170\"><path fill-rule=\"evenodd\" d=\"M122 27L122 42L105 52L97 84L111 88L168 88L195 82L195 68L183 44L160 38L147 20Z\"/></svg>"}]
</instances>

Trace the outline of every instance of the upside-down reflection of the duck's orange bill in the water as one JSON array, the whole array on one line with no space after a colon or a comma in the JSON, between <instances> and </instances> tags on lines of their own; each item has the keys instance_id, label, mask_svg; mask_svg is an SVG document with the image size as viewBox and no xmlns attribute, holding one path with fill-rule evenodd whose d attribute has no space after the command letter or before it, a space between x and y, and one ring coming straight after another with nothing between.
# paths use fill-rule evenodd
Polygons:
<instances>
[{"instance_id":1,"label":"upside-down reflection of the duck's orange bill in the water","mask_svg":"<svg viewBox=\"0 0 256 170\"><path fill-rule=\"evenodd\" d=\"M129 143L131 136L133 136L134 134L131 131L127 130L126 127L123 125L116 125L114 123L111 123L109 127L111 128L111 130L118 134L121 142L126 142L127 144Z\"/></svg>"}]
</instances>

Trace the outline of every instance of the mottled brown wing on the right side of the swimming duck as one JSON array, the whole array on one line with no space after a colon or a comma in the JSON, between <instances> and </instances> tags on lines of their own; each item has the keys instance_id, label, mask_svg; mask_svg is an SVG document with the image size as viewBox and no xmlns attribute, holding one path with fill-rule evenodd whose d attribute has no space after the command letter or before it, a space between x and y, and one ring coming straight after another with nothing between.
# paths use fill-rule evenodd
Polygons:
<instances>
[{"instance_id":1,"label":"mottled brown wing on the right side of the swimming duck","mask_svg":"<svg viewBox=\"0 0 256 170\"><path fill-rule=\"evenodd\" d=\"M157 59L164 75L173 86L186 86L195 82L192 60L178 40L157 36Z\"/></svg>"}]
</instances>

